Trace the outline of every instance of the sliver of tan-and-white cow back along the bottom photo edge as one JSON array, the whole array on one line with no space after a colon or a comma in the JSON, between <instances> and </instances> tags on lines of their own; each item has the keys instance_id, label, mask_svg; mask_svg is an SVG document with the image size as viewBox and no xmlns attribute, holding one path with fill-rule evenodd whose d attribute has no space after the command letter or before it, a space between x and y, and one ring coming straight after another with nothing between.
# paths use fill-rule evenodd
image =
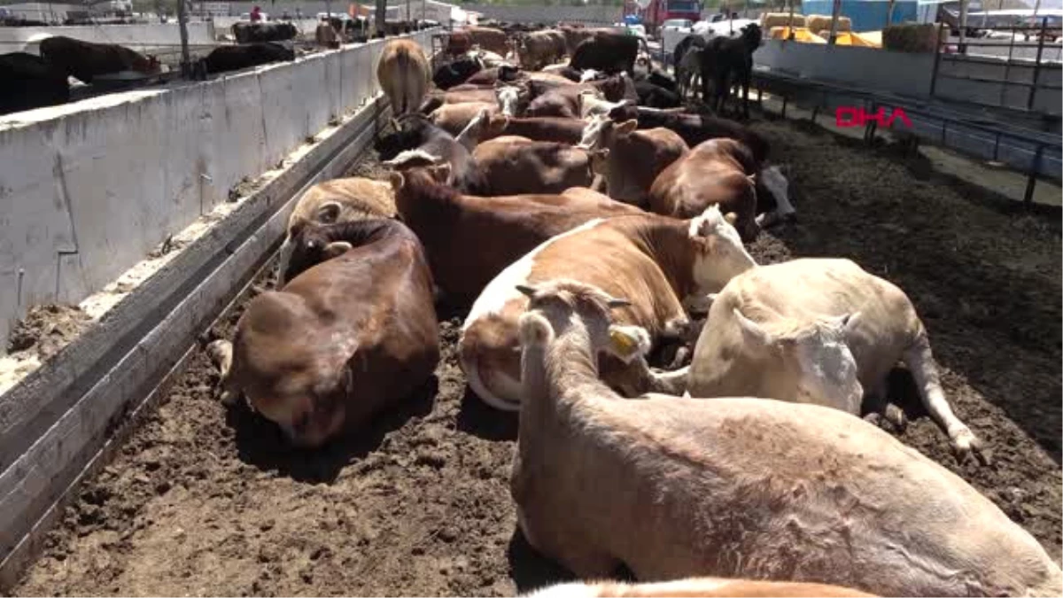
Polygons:
<instances>
[{"instance_id":1,"label":"sliver of tan-and-white cow back along the bottom photo edge","mask_svg":"<svg viewBox=\"0 0 1063 598\"><path fill-rule=\"evenodd\" d=\"M699 577L646 583L572 581L521 594L520 598L875 598L875 595L821 583Z\"/></svg>"}]
</instances>

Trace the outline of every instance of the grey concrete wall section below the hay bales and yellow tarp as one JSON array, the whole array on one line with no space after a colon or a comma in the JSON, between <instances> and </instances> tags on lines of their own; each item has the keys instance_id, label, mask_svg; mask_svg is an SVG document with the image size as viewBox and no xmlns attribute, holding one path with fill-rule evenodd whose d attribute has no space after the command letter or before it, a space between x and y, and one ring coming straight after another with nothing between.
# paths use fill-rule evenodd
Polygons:
<instances>
[{"instance_id":1,"label":"grey concrete wall section below the hay bales and yellow tarp","mask_svg":"<svg viewBox=\"0 0 1063 598\"><path fill-rule=\"evenodd\" d=\"M793 77L844 83L908 96L930 94L933 54L767 39L753 55L758 66Z\"/></svg>"}]
</instances>

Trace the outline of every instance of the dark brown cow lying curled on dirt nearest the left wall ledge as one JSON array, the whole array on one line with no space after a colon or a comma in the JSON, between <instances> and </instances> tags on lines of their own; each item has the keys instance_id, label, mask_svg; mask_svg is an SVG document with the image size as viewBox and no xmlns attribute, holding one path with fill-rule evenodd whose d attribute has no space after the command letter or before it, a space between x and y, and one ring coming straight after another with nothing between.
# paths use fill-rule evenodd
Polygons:
<instances>
[{"instance_id":1,"label":"dark brown cow lying curled on dirt nearest the left wall ledge","mask_svg":"<svg viewBox=\"0 0 1063 598\"><path fill-rule=\"evenodd\" d=\"M292 445L314 448L427 382L438 322L424 250L402 222L307 227L291 261L320 263L252 299L232 343L210 353L227 404L242 394Z\"/></svg>"}]
</instances>

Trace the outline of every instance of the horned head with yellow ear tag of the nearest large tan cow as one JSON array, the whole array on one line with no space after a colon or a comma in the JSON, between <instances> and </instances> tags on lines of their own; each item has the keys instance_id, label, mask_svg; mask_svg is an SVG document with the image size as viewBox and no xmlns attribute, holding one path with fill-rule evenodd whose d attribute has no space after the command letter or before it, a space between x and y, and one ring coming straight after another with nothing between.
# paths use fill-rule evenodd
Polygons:
<instances>
[{"instance_id":1,"label":"horned head with yellow ear tag of the nearest large tan cow","mask_svg":"<svg viewBox=\"0 0 1063 598\"><path fill-rule=\"evenodd\" d=\"M528 298L526 312L521 316L521 344L535 345L549 340L551 335L526 334L533 330L530 322L538 322L537 332L550 325L550 331L564 334L574 323L581 323L593 351L610 346L610 312L630 305L630 301L609 296L596 286L569 279L555 279L538 285L521 284L517 289ZM538 318L538 320L534 319ZM527 330L526 330L527 329Z\"/></svg>"}]
</instances>

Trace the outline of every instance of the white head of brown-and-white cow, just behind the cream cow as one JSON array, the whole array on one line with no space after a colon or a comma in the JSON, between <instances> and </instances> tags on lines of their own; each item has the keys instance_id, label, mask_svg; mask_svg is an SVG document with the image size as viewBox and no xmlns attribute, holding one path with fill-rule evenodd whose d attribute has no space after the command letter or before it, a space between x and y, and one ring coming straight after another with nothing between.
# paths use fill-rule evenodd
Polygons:
<instances>
[{"instance_id":1,"label":"white head of brown-and-white cow, just behind the cream cow","mask_svg":"<svg viewBox=\"0 0 1063 598\"><path fill-rule=\"evenodd\" d=\"M719 292L730 279L757 265L735 230L735 218L733 213L724 216L718 205L711 205L689 220L697 296Z\"/></svg>"}]
</instances>

